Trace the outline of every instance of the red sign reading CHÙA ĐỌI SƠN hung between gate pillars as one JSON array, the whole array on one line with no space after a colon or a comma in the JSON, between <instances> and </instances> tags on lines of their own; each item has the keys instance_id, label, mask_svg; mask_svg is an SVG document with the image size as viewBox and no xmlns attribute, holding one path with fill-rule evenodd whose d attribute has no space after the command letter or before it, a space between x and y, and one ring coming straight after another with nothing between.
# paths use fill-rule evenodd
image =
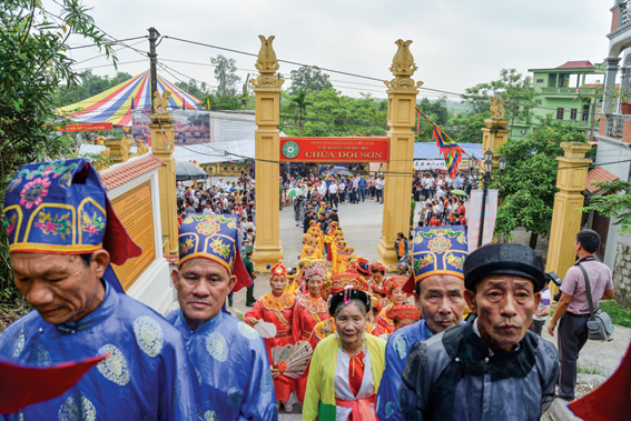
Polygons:
<instances>
[{"instance_id":1,"label":"red sign reading CH\u00d9A \u0110\u1eccI S\u01a0N hung between gate pillars","mask_svg":"<svg viewBox=\"0 0 631 421\"><path fill-rule=\"evenodd\" d=\"M387 162L390 138L280 138L283 162Z\"/></svg>"}]
</instances>

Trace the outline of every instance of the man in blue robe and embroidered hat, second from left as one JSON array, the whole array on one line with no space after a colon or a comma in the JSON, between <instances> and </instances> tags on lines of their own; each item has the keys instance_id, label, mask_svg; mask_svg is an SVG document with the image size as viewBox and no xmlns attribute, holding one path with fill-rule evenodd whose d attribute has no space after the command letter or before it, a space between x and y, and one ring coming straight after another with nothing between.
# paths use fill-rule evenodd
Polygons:
<instances>
[{"instance_id":1,"label":"man in blue robe and embroidered hat, second from left","mask_svg":"<svg viewBox=\"0 0 631 421\"><path fill-rule=\"evenodd\" d=\"M277 420L265 342L225 310L226 297L252 284L237 242L238 218L189 214L179 229L171 278L180 309L167 320L184 335L201 385L204 420Z\"/></svg>"}]
</instances>

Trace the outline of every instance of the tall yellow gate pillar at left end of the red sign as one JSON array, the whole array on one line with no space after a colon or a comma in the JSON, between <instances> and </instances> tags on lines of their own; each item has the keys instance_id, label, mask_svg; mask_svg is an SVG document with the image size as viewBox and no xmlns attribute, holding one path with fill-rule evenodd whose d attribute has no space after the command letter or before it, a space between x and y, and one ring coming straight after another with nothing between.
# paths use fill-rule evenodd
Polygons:
<instances>
[{"instance_id":1,"label":"tall yellow gate pillar at left end of the red sign","mask_svg":"<svg viewBox=\"0 0 631 421\"><path fill-rule=\"evenodd\" d=\"M256 171L256 242L253 263L257 272L269 272L267 268L283 259L279 232L279 142L280 86L284 80L275 73L278 60L272 47L274 36L260 39L260 51L256 60L259 76L250 79L256 97L255 116L258 129L255 132Z\"/></svg>"}]
</instances>

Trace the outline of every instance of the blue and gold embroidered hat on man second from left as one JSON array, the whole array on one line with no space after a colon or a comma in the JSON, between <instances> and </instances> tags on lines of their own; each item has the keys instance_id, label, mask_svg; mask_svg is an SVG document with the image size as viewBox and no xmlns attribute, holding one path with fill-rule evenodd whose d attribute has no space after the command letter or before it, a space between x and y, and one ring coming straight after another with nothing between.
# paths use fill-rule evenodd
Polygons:
<instances>
[{"instance_id":1,"label":"blue and gold embroidered hat on man second from left","mask_svg":"<svg viewBox=\"0 0 631 421\"><path fill-rule=\"evenodd\" d=\"M189 213L179 228L179 265L195 259L210 259L237 277L233 291L253 281L240 257L237 237L239 218L231 214Z\"/></svg>"}]
</instances>

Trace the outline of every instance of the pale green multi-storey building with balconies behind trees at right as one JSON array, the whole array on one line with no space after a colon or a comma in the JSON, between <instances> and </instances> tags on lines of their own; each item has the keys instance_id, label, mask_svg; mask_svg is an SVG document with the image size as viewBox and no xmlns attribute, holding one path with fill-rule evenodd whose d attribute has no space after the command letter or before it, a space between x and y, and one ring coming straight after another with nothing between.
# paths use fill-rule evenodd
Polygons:
<instances>
[{"instance_id":1,"label":"pale green multi-storey building with balconies behind trees at right","mask_svg":"<svg viewBox=\"0 0 631 421\"><path fill-rule=\"evenodd\" d=\"M538 116L563 120L580 130L590 129L594 112L595 88L599 86L593 83L597 79L593 76L604 74L604 63L594 66L589 60L568 61L554 69L529 69L529 72L532 73L532 84L539 94L540 104L530 110L530 123L517 121L511 123L511 137L525 138L532 133ZM592 83L585 83L588 76ZM599 78L600 84L603 79L604 76ZM599 97L597 108L602 96ZM598 121L595 127L598 130Z\"/></svg>"}]
</instances>

